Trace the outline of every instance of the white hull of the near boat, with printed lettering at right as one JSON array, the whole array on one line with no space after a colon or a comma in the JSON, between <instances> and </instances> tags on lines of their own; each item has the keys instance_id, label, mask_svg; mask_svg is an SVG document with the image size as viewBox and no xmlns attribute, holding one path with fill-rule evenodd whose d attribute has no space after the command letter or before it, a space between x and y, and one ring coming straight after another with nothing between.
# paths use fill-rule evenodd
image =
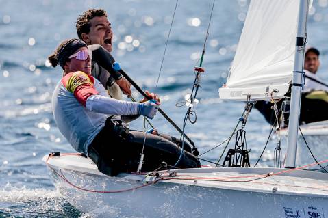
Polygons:
<instances>
[{"instance_id":1,"label":"white hull of the near boat, with printed lettering at right","mask_svg":"<svg viewBox=\"0 0 328 218\"><path fill-rule=\"evenodd\" d=\"M46 159L45 156L44 160ZM195 179L171 178L121 193L94 193L90 191L118 191L139 187L144 185L144 175L106 176L98 172L89 159L79 156L60 156L47 162L55 187L63 197L82 212L97 211L100 217L305 218L311 217L310 215L328 215L328 176L313 172L309 172L311 176L323 179L319 185L316 184L318 178L312 180L270 176L246 182L245 180L250 178L243 177L261 172L279 172L278 170L283 169L180 169L175 171L176 178L187 176ZM307 172L296 172L300 175L304 173ZM218 177L219 180L210 180ZM277 180L273 180L273 177ZM285 184L281 184L281 181L289 177ZM236 179L243 181L236 182ZM320 187L306 187L310 184Z\"/></svg>"}]
</instances>

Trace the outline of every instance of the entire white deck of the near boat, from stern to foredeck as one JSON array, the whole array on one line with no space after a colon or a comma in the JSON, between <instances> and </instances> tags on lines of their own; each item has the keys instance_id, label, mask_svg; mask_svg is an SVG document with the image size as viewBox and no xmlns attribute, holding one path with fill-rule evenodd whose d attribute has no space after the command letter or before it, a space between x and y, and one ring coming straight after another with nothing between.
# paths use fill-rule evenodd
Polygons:
<instances>
[{"instance_id":1,"label":"entire white deck of the near boat, from stern to foredeck","mask_svg":"<svg viewBox=\"0 0 328 218\"><path fill-rule=\"evenodd\" d=\"M47 159L47 156L43 158ZM62 155L51 157L49 165L57 169L73 170L105 177L97 170L90 159L81 156ZM254 191L261 193L279 193L286 195L328 197L328 175L319 172L291 170L277 168L202 168L202 169L175 169L176 177L162 175L164 180L175 184L230 189L236 191ZM165 171L164 171L165 172ZM272 176L266 174L273 173ZM277 175L276 175L277 174ZM120 178L128 180L144 180L144 175L120 174ZM257 179L257 180L254 180Z\"/></svg>"}]
</instances>

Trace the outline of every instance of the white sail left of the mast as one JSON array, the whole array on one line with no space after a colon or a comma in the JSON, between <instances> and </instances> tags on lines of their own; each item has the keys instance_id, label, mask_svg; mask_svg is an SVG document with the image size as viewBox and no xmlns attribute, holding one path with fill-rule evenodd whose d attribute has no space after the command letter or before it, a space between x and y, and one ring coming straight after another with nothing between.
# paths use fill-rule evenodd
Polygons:
<instances>
[{"instance_id":1,"label":"white sail left of the mast","mask_svg":"<svg viewBox=\"0 0 328 218\"><path fill-rule=\"evenodd\" d=\"M220 98L281 98L294 66L298 0L253 0Z\"/></svg>"}]
</instances>

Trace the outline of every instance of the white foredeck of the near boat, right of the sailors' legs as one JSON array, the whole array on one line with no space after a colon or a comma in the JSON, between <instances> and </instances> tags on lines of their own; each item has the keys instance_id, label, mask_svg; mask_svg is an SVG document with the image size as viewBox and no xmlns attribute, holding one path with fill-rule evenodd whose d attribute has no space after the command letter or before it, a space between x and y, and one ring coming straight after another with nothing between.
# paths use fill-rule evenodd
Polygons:
<instances>
[{"instance_id":1,"label":"white foredeck of the near boat, right of the sailors' legs","mask_svg":"<svg viewBox=\"0 0 328 218\"><path fill-rule=\"evenodd\" d=\"M188 172L177 172L175 178L169 178L171 179L167 182L186 185L328 197L328 175L304 170L286 172L286 169L277 168L188 169Z\"/></svg>"}]
</instances>

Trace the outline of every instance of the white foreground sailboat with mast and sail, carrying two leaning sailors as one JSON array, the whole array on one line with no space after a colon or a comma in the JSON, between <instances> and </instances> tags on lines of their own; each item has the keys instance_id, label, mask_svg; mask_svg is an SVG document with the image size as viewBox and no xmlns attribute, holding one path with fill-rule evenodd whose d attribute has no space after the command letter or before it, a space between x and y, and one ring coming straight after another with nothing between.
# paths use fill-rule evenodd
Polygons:
<instances>
[{"instance_id":1,"label":"white foreground sailboat with mast and sail, carrying two leaning sailors","mask_svg":"<svg viewBox=\"0 0 328 218\"><path fill-rule=\"evenodd\" d=\"M246 155L237 158L244 167L232 158L234 167L107 176L83 154L53 152L43 161L55 187L77 209L104 217L327 217L327 174L295 168L308 8L307 0L251 1L219 91L250 104L285 98L291 87L286 168L249 167Z\"/></svg>"}]
</instances>

